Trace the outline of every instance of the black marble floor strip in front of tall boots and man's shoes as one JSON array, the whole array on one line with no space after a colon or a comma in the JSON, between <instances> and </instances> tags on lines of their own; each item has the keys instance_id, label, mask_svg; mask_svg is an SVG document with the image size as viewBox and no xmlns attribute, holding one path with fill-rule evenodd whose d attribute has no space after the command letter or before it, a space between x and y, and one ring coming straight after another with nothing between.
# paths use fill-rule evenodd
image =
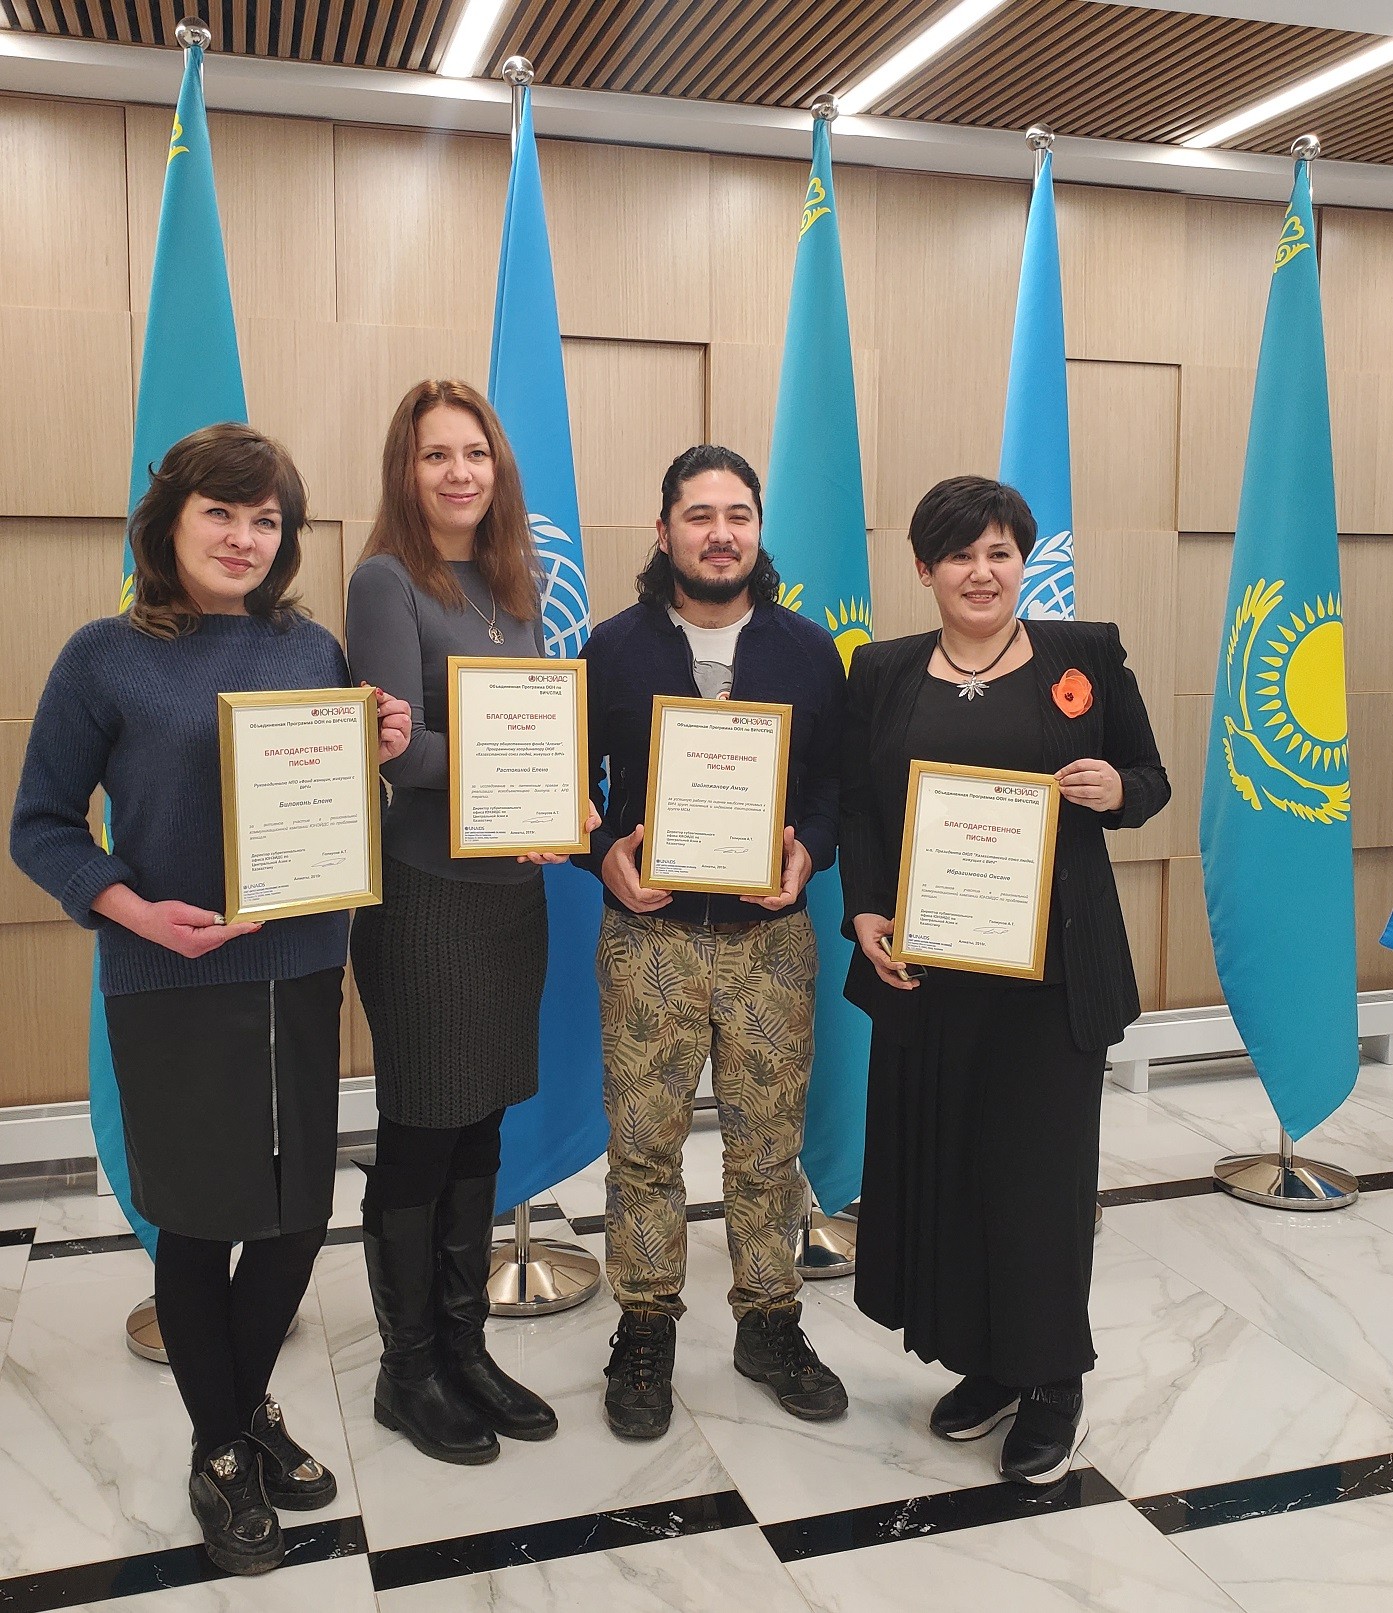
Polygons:
<instances>
[{"instance_id":1,"label":"black marble floor strip in front of tall boots and man's shoes","mask_svg":"<svg viewBox=\"0 0 1393 1613\"><path fill-rule=\"evenodd\" d=\"M735 1490L688 1495L653 1507L556 1518L521 1529L493 1529L489 1534L459 1536L456 1540L432 1540L427 1545L400 1545L390 1552L372 1552L369 1557L372 1587L400 1590L405 1586L455 1579L461 1574L487 1574L521 1563L548 1563L558 1557L613 1552L624 1545L677 1540L688 1534L735 1529L751 1523L755 1516Z\"/></svg>"}]
</instances>

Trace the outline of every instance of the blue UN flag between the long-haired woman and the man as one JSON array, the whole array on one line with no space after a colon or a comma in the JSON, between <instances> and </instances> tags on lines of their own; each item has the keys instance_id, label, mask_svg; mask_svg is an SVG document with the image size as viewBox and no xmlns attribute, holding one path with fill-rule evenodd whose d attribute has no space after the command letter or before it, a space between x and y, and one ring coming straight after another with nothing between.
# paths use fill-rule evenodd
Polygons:
<instances>
[{"instance_id":1,"label":"blue UN flag between the long-haired woman and the man","mask_svg":"<svg viewBox=\"0 0 1393 1613\"><path fill-rule=\"evenodd\" d=\"M576 656L590 637L590 595L530 90L522 92L503 215L489 398L522 471L527 519L542 556L547 650ZM584 1169L605 1152L608 1136L595 986L600 884L569 863L547 868L543 877L551 947L542 992L540 1084L503 1118L500 1211Z\"/></svg>"}]
</instances>

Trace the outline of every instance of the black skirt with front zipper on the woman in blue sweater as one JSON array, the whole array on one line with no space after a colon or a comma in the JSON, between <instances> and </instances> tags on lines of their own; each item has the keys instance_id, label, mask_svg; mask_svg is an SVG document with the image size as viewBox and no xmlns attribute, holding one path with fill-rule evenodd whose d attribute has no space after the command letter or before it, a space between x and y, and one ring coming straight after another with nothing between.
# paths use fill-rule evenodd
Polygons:
<instances>
[{"instance_id":1,"label":"black skirt with front zipper on the woman in blue sweater","mask_svg":"<svg viewBox=\"0 0 1393 1613\"><path fill-rule=\"evenodd\" d=\"M234 1244L329 1221L342 1002L342 968L106 998L147 1221Z\"/></svg>"}]
</instances>

